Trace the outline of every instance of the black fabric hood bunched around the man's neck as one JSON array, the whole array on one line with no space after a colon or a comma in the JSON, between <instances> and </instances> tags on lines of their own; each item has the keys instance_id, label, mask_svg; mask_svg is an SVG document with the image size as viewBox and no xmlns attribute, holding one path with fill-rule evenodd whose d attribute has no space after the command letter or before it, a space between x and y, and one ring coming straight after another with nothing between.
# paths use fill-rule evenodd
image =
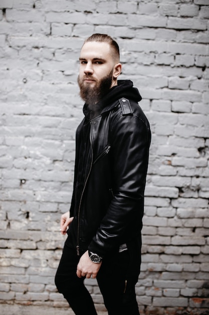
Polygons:
<instances>
[{"instance_id":1,"label":"black fabric hood bunched around the man's neck","mask_svg":"<svg viewBox=\"0 0 209 315\"><path fill-rule=\"evenodd\" d=\"M103 97L95 106L95 111L101 112L106 106L110 106L113 102L122 97L136 102L141 101L141 95L137 88L133 87L133 82L130 80L118 80L118 85L110 89L109 93ZM89 112L88 105L85 104L83 108L84 115Z\"/></svg>"}]
</instances>

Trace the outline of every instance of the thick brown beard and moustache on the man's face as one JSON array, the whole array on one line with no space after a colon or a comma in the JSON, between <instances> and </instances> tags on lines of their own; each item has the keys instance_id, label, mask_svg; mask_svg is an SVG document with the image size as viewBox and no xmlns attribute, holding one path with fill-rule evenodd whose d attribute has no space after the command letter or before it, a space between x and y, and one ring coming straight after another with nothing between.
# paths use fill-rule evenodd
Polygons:
<instances>
[{"instance_id":1,"label":"thick brown beard and moustache on the man's face","mask_svg":"<svg viewBox=\"0 0 209 315\"><path fill-rule=\"evenodd\" d=\"M78 85L80 88L80 97L88 105L94 105L98 103L110 90L112 85L113 70L111 70L100 81L95 81L94 87L90 84L84 84L83 80L78 76ZM87 75L85 78L91 78L91 75Z\"/></svg>"}]
</instances>

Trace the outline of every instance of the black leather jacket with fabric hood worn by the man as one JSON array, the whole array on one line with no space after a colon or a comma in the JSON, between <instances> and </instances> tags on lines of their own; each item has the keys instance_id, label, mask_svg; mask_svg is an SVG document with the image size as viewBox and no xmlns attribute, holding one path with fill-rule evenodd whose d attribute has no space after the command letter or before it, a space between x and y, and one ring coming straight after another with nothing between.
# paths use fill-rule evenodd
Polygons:
<instances>
[{"instance_id":1,"label":"black leather jacket with fabric hood worn by the man","mask_svg":"<svg viewBox=\"0 0 209 315\"><path fill-rule=\"evenodd\" d=\"M118 81L89 121L90 147L79 150L85 118L76 132L74 192L68 242L105 257L140 237L151 133L131 81ZM84 113L88 110L84 106ZM88 154L87 154L88 153ZM77 193L78 161L86 154L82 192Z\"/></svg>"}]
</instances>

